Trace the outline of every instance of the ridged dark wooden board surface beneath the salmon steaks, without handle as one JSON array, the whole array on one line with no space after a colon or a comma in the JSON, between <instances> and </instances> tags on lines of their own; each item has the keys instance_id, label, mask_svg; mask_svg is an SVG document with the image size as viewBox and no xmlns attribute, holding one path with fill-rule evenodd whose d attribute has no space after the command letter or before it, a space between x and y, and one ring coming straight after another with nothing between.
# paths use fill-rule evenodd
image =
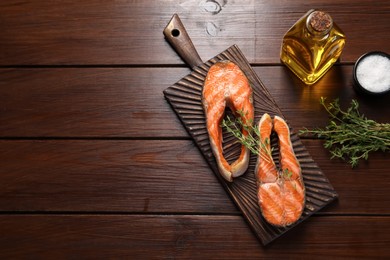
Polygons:
<instances>
[{"instance_id":1,"label":"ridged dark wooden board surface beneath the salmon steaks, without handle","mask_svg":"<svg viewBox=\"0 0 390 260\"><path fill-rule=\"evenodd\" d=\"M338 195L321 169L313 161L298 135L293 131L291 131L291 142L296 157L301 164L303 180L306 187L305 209L300 220L294 225L278 228L268 224L261 216L256 195L256 179L254 176L257 160L255 155L251 155L249 168L243 176L234 179L232 183L226 182L221 177L211 152L206 129L206 119L201 101L203 83L207 72L210 66L221 60L235 62L251 83L255 106L255 122L258 122L264 113L269 113L271 116L279 115L283 117L278 105L236 45L231 46L218 56L210 59L201 66L196 67L192 73L164 90L164 95L194 139L202 154L205 156L220 183L240 208L243 216L257 237L261 240L263 245L266 245L307 219L313 213L331 203ZM275 139L275 137L273 139ZM229 163L231 163L240 153L240 144L227 132L223 133L223 140L225 157ZM276 142L271 143L274 147L272 156L276 164L278 164L278 147Z\"/></svg>"}]
</instances>

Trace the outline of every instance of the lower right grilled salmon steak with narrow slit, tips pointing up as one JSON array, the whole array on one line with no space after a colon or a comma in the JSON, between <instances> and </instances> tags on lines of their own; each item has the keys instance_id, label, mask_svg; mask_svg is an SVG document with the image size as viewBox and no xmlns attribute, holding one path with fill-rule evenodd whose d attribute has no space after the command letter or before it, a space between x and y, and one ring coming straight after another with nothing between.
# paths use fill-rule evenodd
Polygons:
<instances>
[{"instance_id":1,"label":"lower right grilled salmon steak with narrow slit, tips pointing up","mask_svg":"<svg viewBox=\"0 0 390 260\"><path fill-rule=\"evenodd\" d=\"M290 130L279 116L264 114L259 121L260 147L255 176L257 197L265 220L285 227L298 221L305 206L305 186L300 164L295 156ZM280 169L271 155L270 137L275 131L279 139Z\"/></svg>"}]
</instances>

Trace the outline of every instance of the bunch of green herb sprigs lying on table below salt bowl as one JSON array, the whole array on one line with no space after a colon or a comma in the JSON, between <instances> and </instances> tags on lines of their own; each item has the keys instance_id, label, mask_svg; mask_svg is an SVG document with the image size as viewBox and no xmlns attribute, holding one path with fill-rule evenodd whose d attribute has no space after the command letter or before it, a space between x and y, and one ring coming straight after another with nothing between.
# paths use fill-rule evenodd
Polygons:
<instances>
[{"instance_id":1,"label":"bunch of green herb sprigs lying on table below salt bowl","mask_svg":"<svg viewBox=\"0 0 390 260\"><path fill-rule=\"evenodd\" d=\"M299 134L325 139L324 147L330 151L331 159L340 158L355 167L371 152L390 150L390 124L377 123L360 114L356 100L347 110L341 109L338 99L329 104L325 101L321 97L320 103L330 116L329 124L325 128L305 128Z\"/></svg>"}]
</instances>

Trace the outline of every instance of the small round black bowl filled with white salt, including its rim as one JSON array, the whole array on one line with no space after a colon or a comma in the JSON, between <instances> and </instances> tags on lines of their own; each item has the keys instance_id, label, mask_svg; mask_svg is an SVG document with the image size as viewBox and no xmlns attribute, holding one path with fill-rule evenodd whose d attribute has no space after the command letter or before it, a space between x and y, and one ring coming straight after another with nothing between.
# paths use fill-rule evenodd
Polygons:
<instances>
[{"instance_id":1,"label":"small round black bowl filled with white salt, including its rim","mask_svg":"<svg viewBox=\"0 0 390 260\"><path fill-rule=\"evenodd\" d=\"M361 56L353 69L355 88L364 94L384 95L390 92L390 55L380 51Z\"/></svg>"}]
</instances>

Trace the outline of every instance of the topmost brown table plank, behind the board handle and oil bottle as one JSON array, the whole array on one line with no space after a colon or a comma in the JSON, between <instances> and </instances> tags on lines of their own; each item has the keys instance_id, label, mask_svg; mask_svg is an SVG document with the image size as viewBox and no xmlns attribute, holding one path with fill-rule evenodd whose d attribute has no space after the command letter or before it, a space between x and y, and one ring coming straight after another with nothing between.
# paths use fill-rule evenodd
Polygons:
<instances>
[{"instance_id":1,"label":"topmost brown table plank, behind the board handle and oil bottle","mask_svg":"<svg viewBox=\"0 0 390 260\"><path fill-rule=\"evenodd\" d=\"M342 61L390 52L388 1L3 1L0 64L182 64L162 30L178 13L200 56L238 44L252 63L279 63L284 33L306 11L330 12L347 35Z\"/></svg>"}]
</instances>

